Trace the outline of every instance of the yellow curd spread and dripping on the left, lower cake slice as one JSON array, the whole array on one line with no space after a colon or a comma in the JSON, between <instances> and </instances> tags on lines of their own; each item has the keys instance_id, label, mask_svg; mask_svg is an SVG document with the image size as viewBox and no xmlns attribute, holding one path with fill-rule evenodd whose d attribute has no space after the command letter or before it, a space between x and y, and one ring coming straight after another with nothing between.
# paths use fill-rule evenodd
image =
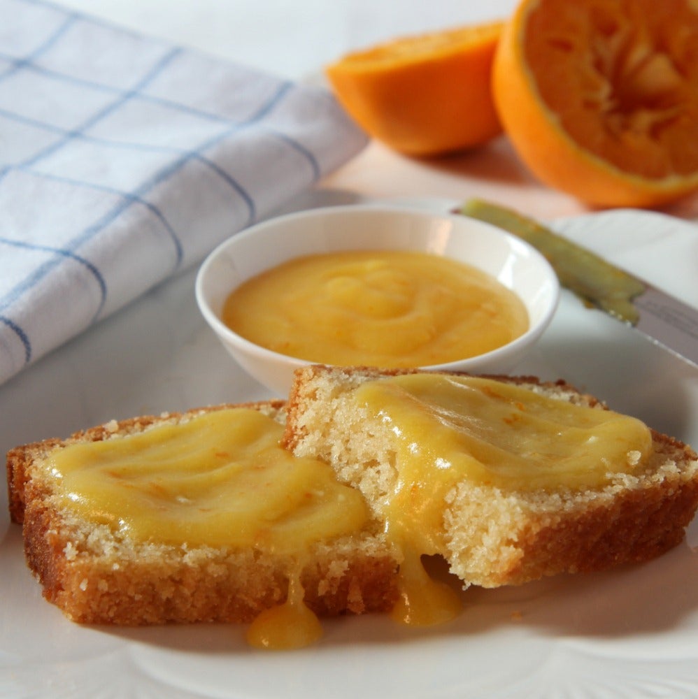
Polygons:
<instances>
[{"instance_id":1,"label":"yellow curd spread and dripping on the left, lower cake slice","mask_svg":"<svg viewBox=\"0 0 698 699\"><path fill-rule=\"evenodd\" d=\"M50 468L64 507L136 540L260 548L294 561L287 600L252 623L248 640L298 647L321 633L300 582L309 548L361 531L369 512L327 464L280 447L282 433L257 410L216 410L57 449Z\"/></svg>"}]
</instances>

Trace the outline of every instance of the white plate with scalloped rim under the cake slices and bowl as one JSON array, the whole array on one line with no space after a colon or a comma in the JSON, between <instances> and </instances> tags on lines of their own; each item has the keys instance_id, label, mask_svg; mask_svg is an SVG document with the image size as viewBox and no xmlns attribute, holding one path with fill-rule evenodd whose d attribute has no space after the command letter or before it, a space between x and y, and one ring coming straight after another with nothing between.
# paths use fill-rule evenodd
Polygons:
<instances>
[{"instance_id":1,"label":"white plate with scalloped rim under the cake slices and bowl","mask_svg":"<svg viewBox=\"0 0 698 699\"><path fill-rule=\"evenodd\" d=\"M572 238L698 305L692 224L636 211L562 224ZM112 417L269 396L232 365L199 317L193 287L191 271L0 388L0 449ZM698 371L567 292L518 370L564 377L698 445ZM318 645L269 654L248 649L238 626L71 624L41 599L6 510L3 493L3 698L698 696L696 521L682 545L645 565L471 589L462 617L430 630L384 617L330 621Z\"/></svg>"}]
</instances>

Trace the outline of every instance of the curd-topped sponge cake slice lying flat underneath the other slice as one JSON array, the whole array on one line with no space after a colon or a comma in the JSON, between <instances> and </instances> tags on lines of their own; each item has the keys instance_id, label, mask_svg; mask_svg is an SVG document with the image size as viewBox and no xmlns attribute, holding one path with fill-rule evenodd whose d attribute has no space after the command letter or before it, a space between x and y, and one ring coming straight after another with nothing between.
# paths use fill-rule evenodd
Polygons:
<instances>
[{"instance_id":1,"label":"curd-topped sponge cake slice lying flat underneath the other slice","mask_svg":"<svg viewBox=\"0 0 698 699\"><path fill-rule=\"evenodd\" d=\"M382 524L278 447L284 418L280 402L221 405L11 450L10 512L44 596L96 624L251 621L294 584L318 615L389 610Z\"/></svg>"}]
</instances>

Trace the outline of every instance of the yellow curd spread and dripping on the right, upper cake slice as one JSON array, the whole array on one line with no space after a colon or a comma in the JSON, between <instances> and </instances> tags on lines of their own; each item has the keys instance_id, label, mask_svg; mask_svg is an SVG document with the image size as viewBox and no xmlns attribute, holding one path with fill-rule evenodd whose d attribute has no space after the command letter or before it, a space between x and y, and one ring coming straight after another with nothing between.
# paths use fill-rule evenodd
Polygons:
<instances>
[{"instance_id":1,"label":"yellow curd spread and dripping on the right, upper cake slice","mask_svg":"<svg viewBox=\"0 0 698 699\"><path fill-rule=\"evenodd\" d=\"M394 436L395 476L380 498L404 554L393 616L407 624L454 617L460 600L430 579L425 555L446 556L444 510L458 484L515 491L603 487L652 452L643 422L484 377L414 373L369 380L355 403Z\"/></svg>"}]
</instances>

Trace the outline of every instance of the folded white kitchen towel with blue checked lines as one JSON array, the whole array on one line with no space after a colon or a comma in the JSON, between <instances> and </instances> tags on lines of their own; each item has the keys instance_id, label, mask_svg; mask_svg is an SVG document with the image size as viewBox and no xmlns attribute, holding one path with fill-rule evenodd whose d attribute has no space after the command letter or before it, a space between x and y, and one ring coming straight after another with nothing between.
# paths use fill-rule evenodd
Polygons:
<instances>
[{"instance_id":1,"label":"folded white kitchen towel with blue checked lines","mask_svg":"<svg viewBox=\"0 0 698 699\"><path fill-rule=\"evenodd\" d=\"M323 89L0 0L0 382L357 154Z\"/></svg>"}]
</instances>

